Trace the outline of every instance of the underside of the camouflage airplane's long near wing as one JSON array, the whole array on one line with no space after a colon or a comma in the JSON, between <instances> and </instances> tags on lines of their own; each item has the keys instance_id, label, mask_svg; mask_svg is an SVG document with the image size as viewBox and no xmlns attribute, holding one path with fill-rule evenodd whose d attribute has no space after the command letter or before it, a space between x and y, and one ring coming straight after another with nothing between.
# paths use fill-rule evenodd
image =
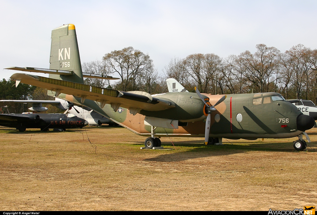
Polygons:
<instances>
[{"instance_id":1,"label":"underside of the camouflage airplane's long near wing","mask_svg":"<svg viewBox=\"0 0 317 215\"><path fill-rule=\"evenodd\" d=\"M100 106L111 104L113 110L120 107L143 109L149 111L160 111L176 106L174 102L168 99L154 98L146 92L132 91L122 92L102 87L89 86L85 84L29 75L24 73L15 73L10 79L16 80L17 83L34 85L56 92L81 97L81 101L87 98L100 102Z\"/></svg>"}]
</instances>

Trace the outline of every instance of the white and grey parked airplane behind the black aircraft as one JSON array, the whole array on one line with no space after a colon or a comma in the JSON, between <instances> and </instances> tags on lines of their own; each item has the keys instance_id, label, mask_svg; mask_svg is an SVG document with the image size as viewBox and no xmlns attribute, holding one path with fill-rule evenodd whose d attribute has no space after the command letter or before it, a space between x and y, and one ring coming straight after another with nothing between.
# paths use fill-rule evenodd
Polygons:
<instances>
[{"instance_id":1,"label":"white and grey parked airplane behind the black aircraft","mask_svg":"<svg viewBox=\"0 0 317 215\"><path fill-rule=\"evenodd\" d=\"M42 107L42 104L51 104L65 111L64 114L69 112L73 114L74 116L87 120L89 125L101 125L101 124L108 124L109 126L118 125L117 123L111 121L110 119L100 115L99 113L87 107L82 108L60 98L55 98L55 101L54 100L0 100L0 102L32 104L32 107L30 107L29 110L36 111L36 112L47 111L48 108Z\"/></svg>"}]
</instances>

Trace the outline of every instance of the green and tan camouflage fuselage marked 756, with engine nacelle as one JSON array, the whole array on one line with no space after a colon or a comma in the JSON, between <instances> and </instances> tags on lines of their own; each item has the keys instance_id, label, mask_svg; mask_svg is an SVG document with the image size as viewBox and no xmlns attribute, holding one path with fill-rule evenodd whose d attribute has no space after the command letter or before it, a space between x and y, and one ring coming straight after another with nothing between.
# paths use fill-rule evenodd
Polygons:
<instances>
[{"instance_id":1,"label":"green and tan camouflage fuselage marked 756, with engine nacelle","mask_svg":"<svg viewBox=\"0 0 317 215\"><path fill-rule=\"evenodd\" d=\"M223 95L207 95L215 104ZM272 96L281 100L273 101ZM157 128L155 136L204 137L204 103L196 93L170 92L153 96L165 98L176 104L163 111L145 111L133 116L124 104L114 112L110 104L100 108L100 103L86 99L84 105L141 136L151 135L151 126L144 124L145 116L179 120L178 129ZM265 98L264 98L265 97ZM80 98L61 94L60 98L80 104ZM265 101L264 101L265 100ZM216 115L219 115L217 118ZM298 136L298 117L302 113L278 93L232 94L211 112L210 137L229 139L288 138Z\"/></svg>"}]
</instances>

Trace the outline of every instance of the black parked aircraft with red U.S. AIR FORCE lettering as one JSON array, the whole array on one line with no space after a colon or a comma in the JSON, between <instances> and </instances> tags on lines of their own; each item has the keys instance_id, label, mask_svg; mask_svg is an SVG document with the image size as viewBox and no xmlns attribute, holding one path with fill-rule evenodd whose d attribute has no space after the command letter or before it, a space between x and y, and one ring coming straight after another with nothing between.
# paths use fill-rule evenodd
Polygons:
<instances>
[{"instance_id":1,"label":"black parked aircraft with red U.S. AIR FORCE lettering","mask_svg":"<svg viewBox=\"0 0 317 215\"><path fill-rule=\"evenodd\" d=\"M21 132L27 128L40 128L41 130L82 128L87 124L87 121L73 114L0 114L0 126L16 128Z\"/></svg>"}]
</instances>

